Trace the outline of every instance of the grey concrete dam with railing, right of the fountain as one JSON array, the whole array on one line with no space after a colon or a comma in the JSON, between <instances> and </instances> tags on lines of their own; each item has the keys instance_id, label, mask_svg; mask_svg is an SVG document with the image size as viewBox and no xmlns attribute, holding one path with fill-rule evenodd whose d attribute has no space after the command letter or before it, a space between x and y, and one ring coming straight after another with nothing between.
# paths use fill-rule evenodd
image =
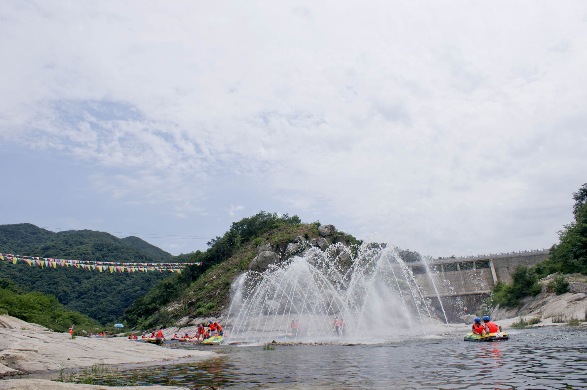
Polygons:
<instances>
[{"instance_id":1,"label":"grey concrete dam with railing, right of the fountain","mask_svg":"<svg viewBox=\"0 0 587 390\"><path fill-rule=\"evenodd\" d=\"M549 253L548 249L538 249L438 258L428 264L411 261L406 265L422 288L424 297L432 301L436 314L443 317L438 302L440 297L448 320L457 321L461 315L474 314L475 307L488 297L495 284L510 283L515 267L521 264L531 267L546 260Z\"/></svg>"}]
</instances>

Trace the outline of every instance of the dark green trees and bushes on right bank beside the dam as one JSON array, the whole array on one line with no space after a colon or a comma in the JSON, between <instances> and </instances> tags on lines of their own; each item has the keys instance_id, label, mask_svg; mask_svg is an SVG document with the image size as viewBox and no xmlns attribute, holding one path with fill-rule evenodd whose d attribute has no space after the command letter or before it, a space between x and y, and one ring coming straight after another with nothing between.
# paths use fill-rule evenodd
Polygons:
<instances>
[{"instance_id":1,"label":"dark green trees and bushes on right bank beside the dam","mask_svg":"<svg viewBox=\"0 0 587 390\"><path fill-rule=\"evenodd\" d=\"M512 283L497 283L493 301L504 307L515 307L519 300L542 291L541 278L559 273L546 287L561 295L569 291L569 281L562 274L587 274L587 183L573 193L574 221L558 232L559 243L550 249L548 259L533 267L518 265L512 273ZM586 316L587 317L587 316Z\"/></svg>"}]
</instances>

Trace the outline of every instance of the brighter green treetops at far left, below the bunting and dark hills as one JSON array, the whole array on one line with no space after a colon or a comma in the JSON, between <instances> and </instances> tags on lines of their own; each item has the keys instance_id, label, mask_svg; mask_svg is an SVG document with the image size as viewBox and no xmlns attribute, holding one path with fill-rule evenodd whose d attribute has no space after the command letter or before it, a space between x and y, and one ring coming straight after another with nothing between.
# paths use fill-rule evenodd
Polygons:
<instances>
[{"instance_id":1,"label":"brighter green treetops at far left, below the bunting and dark hills","mask_svg":"<svg viewBox=\"0 0 587 390\"><path fill-rule=\"evenodd\" d=\"M86 315L68 310L53 295L25 290L15 287L11 280L0 279L0 311L23 321L34 322L57 332L65 332L75 327L95 328L98 324Z\"/></svg>"}]
</instances>

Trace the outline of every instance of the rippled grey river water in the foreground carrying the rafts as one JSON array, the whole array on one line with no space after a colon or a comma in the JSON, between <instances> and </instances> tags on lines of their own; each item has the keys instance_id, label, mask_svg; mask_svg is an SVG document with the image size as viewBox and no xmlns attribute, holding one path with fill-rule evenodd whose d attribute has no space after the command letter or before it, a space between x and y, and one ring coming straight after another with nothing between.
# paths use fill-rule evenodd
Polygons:
<instances>
[{"instance_id":1,"label":"rippled grey river water in the foreground carrying the rafts","mask_svg":"<svg viewBox=\"0 0 587 390\"><path fill-rule=\"evenodd\" d=\"M587 389L587 326L509 330L501 342L429 336L376 345L218 345L218 357L121 372L139 384L235 389Z\"/></svg>"}]
</instances>

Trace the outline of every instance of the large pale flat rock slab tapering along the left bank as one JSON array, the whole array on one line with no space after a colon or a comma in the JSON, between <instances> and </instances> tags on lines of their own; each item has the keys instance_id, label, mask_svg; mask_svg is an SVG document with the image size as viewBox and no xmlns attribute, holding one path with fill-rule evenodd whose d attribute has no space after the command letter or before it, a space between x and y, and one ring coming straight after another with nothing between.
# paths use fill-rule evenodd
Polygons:
<instances>
[{"instance_id":1,"label":"large pale flat rock slab tapering along the left bank","mask_svg":"<svg viewBox=\"0 0 587 390\"><path fill-rule=\"evenodd\" d=\"M207 358L215 352L167 349L127 338L76 337L69 333L0 329L0 364L23 372Z\"/></svg>"}]
</instances>

